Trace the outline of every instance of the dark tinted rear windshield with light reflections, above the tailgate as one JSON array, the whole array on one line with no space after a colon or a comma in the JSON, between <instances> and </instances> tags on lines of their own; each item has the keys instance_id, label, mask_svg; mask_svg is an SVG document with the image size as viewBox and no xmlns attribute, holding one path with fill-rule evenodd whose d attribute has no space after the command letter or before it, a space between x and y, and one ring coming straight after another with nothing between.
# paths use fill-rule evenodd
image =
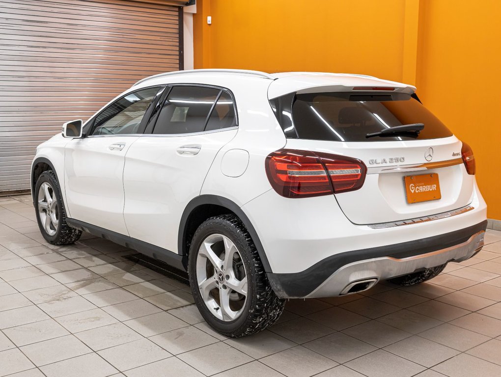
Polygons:
<instances>
[{"instance_id":1,"label":"dark tinted rear windshield with light reflections, above the tailgate","mask_svg":"<svg viewBox=\"0 0 501 377\"><path fill-rule=\"evenodd\" d=\"M288 138L373 142L452 136L418 100L403 93L289 94L270 102ZM419 135L366 137L370 133L414 123L424 124Z\"/></svg>"}]
</instances>

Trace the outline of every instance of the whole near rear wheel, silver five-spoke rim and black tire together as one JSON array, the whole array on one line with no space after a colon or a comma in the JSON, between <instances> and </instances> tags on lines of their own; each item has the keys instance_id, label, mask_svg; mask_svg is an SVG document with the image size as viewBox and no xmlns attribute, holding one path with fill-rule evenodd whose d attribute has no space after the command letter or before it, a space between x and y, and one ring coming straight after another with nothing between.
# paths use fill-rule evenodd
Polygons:
<instances>
[{"instance_id":1,"label":"whole near rear wheel, silver five-spoke rim and black tire together","mask_svg":"<svg viewBox=\"0 0 501 377\"><path fill-rule=\"evenodd\" d=\"M223 335L264 330L284 310L285 300L271 288L256 246L235 215L212 217L198 227L188 270L198 310Z\"/></svg>"}]
</instances>

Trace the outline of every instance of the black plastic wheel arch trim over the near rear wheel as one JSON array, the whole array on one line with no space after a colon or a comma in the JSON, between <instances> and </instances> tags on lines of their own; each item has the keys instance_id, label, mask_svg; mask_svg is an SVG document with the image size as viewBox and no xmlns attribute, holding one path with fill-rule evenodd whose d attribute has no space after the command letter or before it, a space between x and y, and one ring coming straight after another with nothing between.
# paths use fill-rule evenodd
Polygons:
<instances>
[{"instance_id":1,"label":"black plastic wheel arch trim over the near rear wheel","mask_svg":"<svg viewBox=\"0 0 501 377\"><path fill-rule=\"evenodd\" d=\"M261 240L258 236L258 233L256 232L256 229L254 228L253 224L248 219L247 215L243 212L240 206L238 206L238 204L231 201L230 199L218 195L209 195L209 194L200 195L193 198L186 205L184 212L181 216L181 221L179 223L179 233L177 238L178 252L179 254L183 255L183 259L187 256L186 228L187 228L188 218L197 207L204 204L213 204L213 205L218 205L220 207L225 207L231 212L233 212L236 216L238 216L238 218L241 220L241 222L249 232L250 237L254 241L254 244L256 245L256 249L258 250L258 254L261 258L261 262L263 263L265 271L273 272L270 266L270 262L268 261L268 258L266 256L263 244L261 243Z\"/></svg>"}]
</instances>

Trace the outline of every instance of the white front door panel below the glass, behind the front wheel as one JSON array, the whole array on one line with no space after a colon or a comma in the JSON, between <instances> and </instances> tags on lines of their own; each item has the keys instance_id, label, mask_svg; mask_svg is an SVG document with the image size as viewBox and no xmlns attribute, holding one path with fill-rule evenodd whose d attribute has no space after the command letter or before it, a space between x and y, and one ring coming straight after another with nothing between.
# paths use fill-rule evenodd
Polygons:
<instances>
[{"instance_id":1,"label":"white front door panel below the glass, behind the front wheel","mask_svg":"<svg viewBox=\"0 0 501 377\"><path fill-rule=\"evenodd\" d=\"M66 145L66 206L80 221L128 235L123 217L125 154L139 136L93 136ZM122 150L109 147L125 144Z\"/></svg>"}]
</instances>

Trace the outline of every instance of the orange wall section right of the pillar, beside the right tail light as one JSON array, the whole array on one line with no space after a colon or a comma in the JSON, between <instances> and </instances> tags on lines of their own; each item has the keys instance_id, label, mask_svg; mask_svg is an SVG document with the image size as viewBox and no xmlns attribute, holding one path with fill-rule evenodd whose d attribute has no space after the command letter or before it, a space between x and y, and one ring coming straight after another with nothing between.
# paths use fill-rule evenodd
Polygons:
<instances>
[{"instance_id":1,"label":"orange wall section right of the pillar, beside the right tail light","mask_svg":"<svg viewBox=\"0 0 501 377\"><path fill-rule=\"evenodd\" d=\"M418 95L473 149L489 218L501 220L501 2L421 0Z\"/></svg>"}]
</instances>

